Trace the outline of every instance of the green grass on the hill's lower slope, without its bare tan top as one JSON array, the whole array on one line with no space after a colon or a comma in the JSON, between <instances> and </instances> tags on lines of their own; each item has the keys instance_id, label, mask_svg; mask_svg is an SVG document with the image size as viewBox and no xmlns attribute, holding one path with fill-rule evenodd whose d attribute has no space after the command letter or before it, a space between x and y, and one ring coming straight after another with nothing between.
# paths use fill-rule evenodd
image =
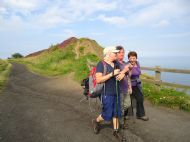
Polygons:
<instances>
[{"instance_id":1,"label":"green grass on the hill's lower slope, without its bare tan top","mask_svg":"<svg viewBox=\"0 0 190 142\"><path fill-rule=\"evenodd\" d=\"M59 76L74 72L74 78L81 81L89 74L87 59L98 61L93 54L86 54L76 59L71 45L66 49L53 46L39 56L14 59L12 61L25 64L30 70L46 76Z\"/></svg>"}]
</instances>

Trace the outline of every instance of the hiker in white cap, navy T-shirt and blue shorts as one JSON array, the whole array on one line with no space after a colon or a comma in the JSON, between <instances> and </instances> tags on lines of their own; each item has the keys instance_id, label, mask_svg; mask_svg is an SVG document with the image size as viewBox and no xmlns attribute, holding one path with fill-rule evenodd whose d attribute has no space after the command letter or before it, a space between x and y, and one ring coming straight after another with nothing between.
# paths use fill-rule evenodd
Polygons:
<instances>
[{"instance_id":1,"label":"hiker in white cap, navy T-shirt and blue shorts","mask_svg":"<svg viewBox=\"0 0 190 142\"><path fill-rule=\"evenodd\" d=\"M100 131L101 121L113 121L113 135L119 137L119 121L121 118L121 104L120 104L120 90L119 82L116 80L116 75L120 73L120 69L116 68L114 61L117 59L116 47L107 47L104 49L104 59L96 66L96 81L97 83L104 83L102 91L102 112L92 120L93 130L95 134ZM106 66L106 73L104 74L104 64Z\"/></svg>"}]
</instances>

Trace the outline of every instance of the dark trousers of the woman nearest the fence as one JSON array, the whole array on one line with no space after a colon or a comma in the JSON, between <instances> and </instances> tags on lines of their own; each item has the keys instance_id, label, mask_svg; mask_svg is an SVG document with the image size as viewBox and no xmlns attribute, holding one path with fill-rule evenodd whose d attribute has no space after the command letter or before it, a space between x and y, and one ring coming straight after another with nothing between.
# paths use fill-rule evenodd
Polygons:
<instances>
[{"instance_id":1,"label":"dark trousers of the woman nearest the fence","mask_svg":"<svg viewBox=\"0 0 190 142\"><path fill-rule=\"evenodd\" d=\"M132 89L133 89L132 97L136 99L136 116L137 117L145 116L143 94L137 86L133 86Z\"/></svg>"}]
</instances>

